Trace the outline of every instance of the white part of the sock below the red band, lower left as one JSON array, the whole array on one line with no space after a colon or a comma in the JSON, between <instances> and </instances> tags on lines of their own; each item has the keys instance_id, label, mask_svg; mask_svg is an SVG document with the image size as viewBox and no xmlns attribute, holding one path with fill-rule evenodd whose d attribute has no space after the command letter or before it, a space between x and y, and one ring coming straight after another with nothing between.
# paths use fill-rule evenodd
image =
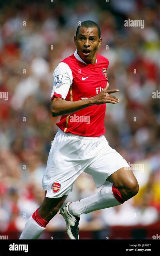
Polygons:
<instances>
[{"instance_id":1,"label":"white part of the sock below the red band, lower left","mask_svg":"<svg viewBox=\"0 0 160 256\"><path fill-rule=\"evenodd\" d=\"M38 239L45 229L30 216L19 239Z\"/></svg>"}]
</instances>

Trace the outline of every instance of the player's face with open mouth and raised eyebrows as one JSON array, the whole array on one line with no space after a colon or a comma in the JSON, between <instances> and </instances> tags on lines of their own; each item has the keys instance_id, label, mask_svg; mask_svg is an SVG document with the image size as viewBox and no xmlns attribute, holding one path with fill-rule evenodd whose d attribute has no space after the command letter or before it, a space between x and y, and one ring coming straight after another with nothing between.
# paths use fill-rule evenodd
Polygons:
<instances>
[{"instance_id":1,"label":"player's face with open mouth and raised eyebrows","mask_svg":"<svg viewBox=\"0 0 160 256\"><path fill-rule=\"evenodd\" d=\"M79 56L87 63L95 64L98 47L102 38L99 39L98 29L80 27L77 37L74 37Z\"/></svg>"}]
</instances>

